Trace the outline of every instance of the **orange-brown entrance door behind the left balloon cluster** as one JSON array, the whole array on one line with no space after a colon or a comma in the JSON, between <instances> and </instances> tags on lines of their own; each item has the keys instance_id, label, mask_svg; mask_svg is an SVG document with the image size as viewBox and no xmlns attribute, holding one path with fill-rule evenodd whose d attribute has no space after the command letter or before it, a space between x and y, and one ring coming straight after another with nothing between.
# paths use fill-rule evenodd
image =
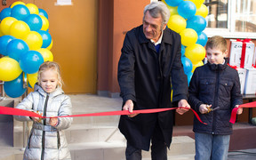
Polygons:
<instances>
[{"instance_id":1,"label":"orange-brown entrance door behind the left balloon cluster","mask_svg":"<svg viewBox=\"0 0 256 160\"><path fill-rule=\"evenodd\" d=\"M25 0L49 16L54 61L60 64L66 93L96 93L97 86L97 0Z\"/></svg>"}]
</instances>

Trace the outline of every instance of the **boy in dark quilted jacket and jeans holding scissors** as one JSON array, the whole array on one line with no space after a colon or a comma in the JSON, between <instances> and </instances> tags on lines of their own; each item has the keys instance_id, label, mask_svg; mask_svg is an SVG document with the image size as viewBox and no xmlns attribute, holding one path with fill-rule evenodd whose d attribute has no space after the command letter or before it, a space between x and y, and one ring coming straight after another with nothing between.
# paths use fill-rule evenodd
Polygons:
<instances>
[{"instance_id":1,"label":"boy in dark quilted jacket and jeans holding scissors","mask_svg":"<svg viewBox=\"0 0 256 160\"><path fill-rule=\"evenodd\" d=\"M196 68L188 89L188 103L206 123L194 118L195 159L224 160L228 159L232 133L231 111L243 103L240 81L236 69L225 59L227 42L222 36L209 38L205 48L208 62ZM238 115L242 112L243 108L237 110Z\"/></svg>"}]
</instances>

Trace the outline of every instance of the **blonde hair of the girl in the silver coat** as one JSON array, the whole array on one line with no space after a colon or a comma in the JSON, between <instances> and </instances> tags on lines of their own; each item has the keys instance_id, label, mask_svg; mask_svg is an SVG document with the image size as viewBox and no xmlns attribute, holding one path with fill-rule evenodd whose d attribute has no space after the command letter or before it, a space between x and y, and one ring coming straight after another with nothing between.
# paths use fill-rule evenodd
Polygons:
<instances>
[{"instance_id":1,"label":"blonde hair of the girl in the silver coat","mask_svg":"<svg viewBox=\"0 0 256 160\"><path fill-rule=\"evenodd\" d=\"M58 78L58 86L61 88L62 87L62 84L63 81L62 81L62 78L60 76L60 66L58 63L54 62L54 61L45 61L43 64L41 64L39 70L38 70L38 76L37 76L37 81L38 81L38 84L40 84L40 80L41 80L41 74L46 71L46 70L49 70L49 69L52 69L54 71L56 71L56 74L57 74L57 78Z\"/></svg>"}]
</instances>

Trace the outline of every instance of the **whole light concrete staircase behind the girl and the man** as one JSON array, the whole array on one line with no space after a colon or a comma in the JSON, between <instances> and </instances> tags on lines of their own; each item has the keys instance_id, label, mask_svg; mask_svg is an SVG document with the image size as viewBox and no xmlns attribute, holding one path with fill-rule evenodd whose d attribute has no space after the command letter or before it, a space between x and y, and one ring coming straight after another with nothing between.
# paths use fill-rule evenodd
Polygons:
<instances>
[{"instance_id":1,"label":"whole light concrete staircase behind the girl and the man","mask_svg":"<svg viewBox=\"0 0 256 160\"><path fill-rule=\"evenodd\" d=\"M120 110L121 99L97 95L69 95L73 114L85 114ZM119 116L74 117L65 133L72 160L123 160L126 140L117 129ZM29 124L31 126L31 124ZM14 120L13 146L0 147L0 160L20 160L23 156L22 123ZM149 160L150 152L142 152L143 160ZM169 159L194 159L194 140L188 136L175 136L168 150Z\"/></svg>"}]
</instances>

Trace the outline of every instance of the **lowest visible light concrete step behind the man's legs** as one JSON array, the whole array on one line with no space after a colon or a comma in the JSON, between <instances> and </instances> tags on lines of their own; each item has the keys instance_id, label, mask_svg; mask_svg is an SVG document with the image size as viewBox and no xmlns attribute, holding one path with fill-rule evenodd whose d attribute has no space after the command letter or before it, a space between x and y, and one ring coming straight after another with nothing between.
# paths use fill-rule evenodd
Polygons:
<instances>
[{"instance_id":1,"label":"lowest visible light concrete step behind the man's legs","mask_svg":"<svg viewBox=\"0 0 256 160\"><path fill-rule=\"evenodd\" d=\"M194 159L195 141L188 136L173 137L168 150L170 159ZM113 160L125 159L126 141L71 143L69 149L75 160ZM143 160L151 159L150 151L142 151Z\"/></svg>"}]
</instances>

